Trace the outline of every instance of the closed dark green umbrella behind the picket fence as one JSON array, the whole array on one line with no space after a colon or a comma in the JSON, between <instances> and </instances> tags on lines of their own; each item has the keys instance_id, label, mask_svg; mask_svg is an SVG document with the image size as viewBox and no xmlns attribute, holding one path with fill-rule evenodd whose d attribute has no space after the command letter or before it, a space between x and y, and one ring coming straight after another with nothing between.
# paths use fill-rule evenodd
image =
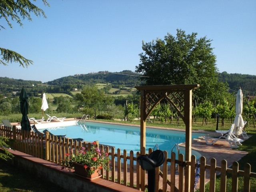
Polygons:
<instances>
[{"instance_id":1,"label":"closed dark green umbrella behind the picket fence","mask_svg":"<svg viewBox=\"0 0 256 192\"><path fill-rule=\"evenodd\" d=\"M28 119L28 95L26 94L24 88L22 88L20 92L20 111L22 113L22 118L20 122L21 130L30 131L31 126Z\"/></svg>"}]
</instances>

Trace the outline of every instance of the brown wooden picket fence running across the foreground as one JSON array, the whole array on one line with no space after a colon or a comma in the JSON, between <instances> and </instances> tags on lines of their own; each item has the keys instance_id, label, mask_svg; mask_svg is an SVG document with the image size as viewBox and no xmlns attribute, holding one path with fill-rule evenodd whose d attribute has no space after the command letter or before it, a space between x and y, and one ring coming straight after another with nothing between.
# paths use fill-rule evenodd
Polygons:
<instances>
[{"instance_id":1,"label":"brown wooden picket fence running across the foreground","mask_svg":"<svg viewBox=\"0 0 256 192\"><path fill-rule=\"evenodd\" d=\"M72 139L58 139L56 136L50 136L49 133L43 137L43 134L37 135L34 132L26 132L18 129L13 129L0 126L0 136L14 140L12 148L19 150L26 154L36 156L60 164L60 160L65 157L66 153L74 153L81 147L90 150L92 144L90 142L77 142ZM120 149L109 148L108 146L100 145L100 150L106 150L111 157L110 170L101 170L102 178L130 186L138 190L145 191L147 188L146 179L141 177L144 171L137 163L137 157L140 153L127 152ZM148 154L152 149L148 151ZM45 154L43 154L45 153ZM191 156L191 161L184 161L183 154L178 156L172 153L171 158L168 153L164 151L165 161L162 166L156 168L156 192L182 192L182 191L196 191L199 188L200 192L205 191L205 183L210 181L210 192L216 191L216 175L220 174L220 192L226 192L227 188L227 174L232 175L232 192L238 191L238 177L243 177L243 191L250 192L250 180L256 178L256 173L251 172L250 164L245 164L244 171L239 170L238 162L233 162L232 169L227 168L227 161L222 160L221 166L216 166L216 159L212 158L210 165L206 164L206 158L201 157L196 160L194 155ZM190 185L184 185L184 170L190 166ZM200 175L200 176L199 176ZM147 175L146 175L147 176Z\"/></svg>"}]
</instances>

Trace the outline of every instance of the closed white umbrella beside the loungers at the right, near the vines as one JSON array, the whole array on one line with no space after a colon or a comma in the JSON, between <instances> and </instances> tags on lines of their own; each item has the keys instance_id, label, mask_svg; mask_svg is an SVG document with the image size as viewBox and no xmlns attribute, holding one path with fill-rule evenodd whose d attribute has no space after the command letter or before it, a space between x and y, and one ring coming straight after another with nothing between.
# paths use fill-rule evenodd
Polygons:
<instances>
[{"instance_id":1,"label":"closed white umbrella beside the loungers at the right, near the vines","mask_svg":"<svg viewBox=\"0 0 256 192\"><path fill-rule=\"evenodd\" d=\"M234 131L236 135L242 134L242 130L244 128L244 120L242 118L242 110L243 110L243 93L240 88L236 94L236 118L234 120Z\"/></svg>"}]
</instances>

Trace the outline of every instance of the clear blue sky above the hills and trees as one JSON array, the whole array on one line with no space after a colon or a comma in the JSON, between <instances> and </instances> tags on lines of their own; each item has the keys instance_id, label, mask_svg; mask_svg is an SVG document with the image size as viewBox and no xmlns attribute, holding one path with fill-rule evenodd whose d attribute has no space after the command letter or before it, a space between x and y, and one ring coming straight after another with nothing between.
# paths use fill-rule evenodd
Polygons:
<instances>
[{"instance_id":1,"label":"clear blue sky above the hills and trees","mask_svg":"<svg viewBox=\"0 0 256 192\"><path fill-rule=\"evenodd\" d=\"M47 18L0 24L0 47L34 64L0 65L0 76L51 81L74 74L135 71L142 40L176 29L212 40L219 72L256 75L256 0L48 0Z\"/></svg>"}]
</instances>

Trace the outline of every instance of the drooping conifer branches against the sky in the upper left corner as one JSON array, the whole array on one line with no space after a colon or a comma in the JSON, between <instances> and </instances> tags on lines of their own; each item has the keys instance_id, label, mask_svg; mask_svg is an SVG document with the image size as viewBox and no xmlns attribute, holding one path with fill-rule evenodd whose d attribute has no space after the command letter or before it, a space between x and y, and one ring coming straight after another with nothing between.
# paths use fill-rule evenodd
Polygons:
<instances>
[{"instance_id":1,"label":"drooping conifer branches against the sky in the upper left corner","mask_svg":"<svg viewBox=\"0 0 256 192\"><path fill-rule=\"evenodd\" d=\"M36 2L36 0L33 0ZM44 11L33 4L32 0L0 0L0 19L4 18L10 28L12 28L12 21L16 21L20 26L22 26L22 20L31 21L31 13L36 16L43 16L46 18ZM45 6L50 6L46 0L42 0ZM1 24L0 30L5 29ZM22 55L15 51L8 50L0 47L0 64L7 65L7 63L17 62L20 66L27 67L33 64L32 60L24 58Z\"/></svg>"}]
</instances>

